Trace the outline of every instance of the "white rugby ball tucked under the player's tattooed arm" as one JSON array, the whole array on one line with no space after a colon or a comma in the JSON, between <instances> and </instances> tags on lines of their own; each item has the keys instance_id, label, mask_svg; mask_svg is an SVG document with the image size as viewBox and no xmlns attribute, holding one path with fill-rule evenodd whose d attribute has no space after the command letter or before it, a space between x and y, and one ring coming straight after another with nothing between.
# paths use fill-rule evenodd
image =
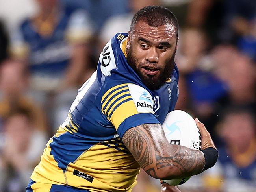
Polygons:
<instances>
[{"instance_id":1,"label":"white rugby ball tucked under the player's tattooed arm","mask_svg":"<svg viewBox=\"0 0 256 192\"><path fill-rule=\"evenodd\" d=\"M167 114L163 131L170 144L182 145L190 149L201 149L201 135L193 117L185 111L174 110ZM169 185L181 185L190 177L163 180Z\"/></svg>"}]
</instances>

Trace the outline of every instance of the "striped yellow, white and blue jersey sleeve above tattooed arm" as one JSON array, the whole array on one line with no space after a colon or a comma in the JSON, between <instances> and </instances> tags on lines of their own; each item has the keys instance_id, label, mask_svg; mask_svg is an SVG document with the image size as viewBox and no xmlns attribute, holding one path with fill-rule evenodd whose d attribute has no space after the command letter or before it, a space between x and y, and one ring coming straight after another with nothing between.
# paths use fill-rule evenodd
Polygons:
<instances>
[{"instance_id":1,"label":"striped yellow, white and blue jersey sleeve above tattooed arm","mask_svg":"<svg viewBox=\"0 0 256 192\"><path fill-rule=\"evenodd\" d=\"M135 84L120 84L109 89L101 100L102 113L111 121L120 138L132 128L159 123L154 116L150 93Z\"/></svg>"}]
</instances>

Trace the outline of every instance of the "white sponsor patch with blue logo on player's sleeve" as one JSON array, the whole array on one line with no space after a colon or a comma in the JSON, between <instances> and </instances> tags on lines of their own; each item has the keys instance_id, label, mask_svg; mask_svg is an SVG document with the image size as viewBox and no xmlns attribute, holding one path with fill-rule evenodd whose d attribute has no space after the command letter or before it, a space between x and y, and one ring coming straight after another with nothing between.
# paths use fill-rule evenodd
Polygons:
<instances>
[{"instance_id":1,"label":"white sponsor patch with blue logo on player's sleeve","mask_svg":"<svg viewBox=\"0 0 256 192\"><path fill-rule=\"evenodd\" d=\"M139 113L153 113L153 99L150 93L139 85L129 84L129 91Z\"/></svg>"}]
</instances>

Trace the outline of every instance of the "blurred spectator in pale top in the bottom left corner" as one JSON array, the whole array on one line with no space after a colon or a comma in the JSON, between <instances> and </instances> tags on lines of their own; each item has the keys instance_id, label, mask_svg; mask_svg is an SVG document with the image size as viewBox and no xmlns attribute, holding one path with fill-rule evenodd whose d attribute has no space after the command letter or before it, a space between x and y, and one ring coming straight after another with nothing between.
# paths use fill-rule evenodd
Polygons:
<instances>
[{"instance_id":1,"label":"blurred spectator in pale top in the bottom left corner","mask_svg":"<svg viewBox=\"0 0 256 192\"><path fill-rule=\"evenodd\" d=\"M35 128L32 111L17 109L4 123L0 148L0 191L23 192L34 166L39 162L46 134Z\"/></svg>"}]
</instances>

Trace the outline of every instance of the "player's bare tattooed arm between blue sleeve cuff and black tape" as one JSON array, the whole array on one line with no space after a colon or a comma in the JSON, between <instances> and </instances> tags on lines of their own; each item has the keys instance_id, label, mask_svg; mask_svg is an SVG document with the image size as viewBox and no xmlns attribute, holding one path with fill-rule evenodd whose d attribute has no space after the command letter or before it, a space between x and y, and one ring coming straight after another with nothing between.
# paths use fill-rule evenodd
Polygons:
<instances>
[{"instance_id":1,"label":"player's bare tattooed arm between blue sleeve cuff and black tape","mask_svg":"<svg viewBox=\"0 0 256 192\"><path fill-rule=\"evenodd\" d=\"M131 128L122 141L143 170L156 179L196 175L204 168L202 151L169 144L160 124Z\"/></svg>"}]
</instances>

